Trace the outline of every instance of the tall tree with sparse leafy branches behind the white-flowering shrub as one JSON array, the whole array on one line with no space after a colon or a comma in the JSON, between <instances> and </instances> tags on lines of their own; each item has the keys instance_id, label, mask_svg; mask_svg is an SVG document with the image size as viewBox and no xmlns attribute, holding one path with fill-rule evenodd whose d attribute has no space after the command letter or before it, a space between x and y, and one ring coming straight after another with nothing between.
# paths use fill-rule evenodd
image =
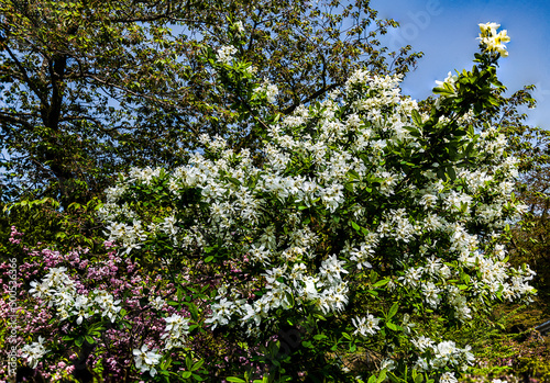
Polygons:
<instances>
[{"instance_id":1,"label":"tall tree with sparse leafy branches behind the white-flowering shrub","mask_svg":"<svg viewBox=\"0 0 550 383\"><path fill-rule=\"evenodd\" d=\"M388 53L376 40L395 25L363 0L2 0L4 199L26 189L84 201L128 166L180 165L201 133L250 146L254 116L232 110L238 87L215 89L205 46L239 42L278 86L273 108L288 114L360 65L406 72L419 55Z\"/></svg>"}]
</instances>

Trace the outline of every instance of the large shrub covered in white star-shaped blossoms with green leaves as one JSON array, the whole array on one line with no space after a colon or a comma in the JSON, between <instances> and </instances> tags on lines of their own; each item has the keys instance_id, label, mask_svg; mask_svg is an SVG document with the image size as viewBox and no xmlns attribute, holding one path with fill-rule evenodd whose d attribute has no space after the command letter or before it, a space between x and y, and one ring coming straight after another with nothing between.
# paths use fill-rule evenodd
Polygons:
<instances>
[{"instance_id":1,"label":"large shrub covered in white star-shaped blossoms with green leaves","mask_svg":"<svg viewBox=\"0 0 550 383\"><path fill-rule=\"evenodd\" d=\"M493 50L440 82L429 111L402 95L399 77L359 69L323 102L273 117L262 105L276 87L251 81L237 48L218 49L220 86L241 81L262 144L204 136L186 166L121 176L99 212L117 257L169 285L150 301L163 335L132 351L143 379L457 382L474 356L432 324L464 326L534 293L503 236L524 211L517 161L497 128L473 128L497 105ZM59 323L128 320L123 297L78 294L74 279L50 269L31 293ZM206 359L190 346L199 338L242 358ZM174 370L187 361L178 349L210 374Z\"/></svg>"}]
</instances>

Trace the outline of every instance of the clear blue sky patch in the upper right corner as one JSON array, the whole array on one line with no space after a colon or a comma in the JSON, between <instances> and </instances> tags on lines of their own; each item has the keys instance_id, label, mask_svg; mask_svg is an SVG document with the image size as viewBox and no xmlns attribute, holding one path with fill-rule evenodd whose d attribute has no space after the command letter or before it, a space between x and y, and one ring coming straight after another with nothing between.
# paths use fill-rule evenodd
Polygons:
<instances>
[{"instance_id":1,"label":"clear blue sky patch in the upper right corner","mask_svg":"<svg viewBox=\"0 0 550 383\"><path fill-rule=\"evenodd\" d=\"M436 80L454 69L471 69L479 23L496 22L512 41L509 56L501 58L498 76L507 94L525 85L536 85L537 108L527 111L528 123L550 128L550 1L512 0L372 0L378 18L400 23L382 42L393 49L410 44L425 53L418 68L408 74L402 88L420 100L431 94Z\"/></svg>"}]
</instances>

